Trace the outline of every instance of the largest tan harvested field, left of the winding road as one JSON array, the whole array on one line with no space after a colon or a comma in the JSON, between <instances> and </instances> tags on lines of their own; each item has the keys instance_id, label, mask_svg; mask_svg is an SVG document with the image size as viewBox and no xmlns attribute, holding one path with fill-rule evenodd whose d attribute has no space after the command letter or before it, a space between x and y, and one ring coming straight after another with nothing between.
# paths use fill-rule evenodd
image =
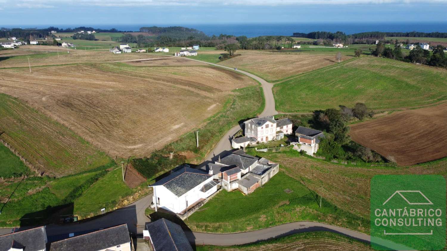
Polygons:
<instances>
[{"instance_id":1,"label":"largest tan harvested field, left of the winding road","mask_svg":"<svg viewBox=\"0 0 447 251\"><path fill-rule=\"evenodd\" d=\"M1 69L0 92L27 100L114 157L148 156L254 80L217 67L125 63Z\"/></svg>"}]
</instances>

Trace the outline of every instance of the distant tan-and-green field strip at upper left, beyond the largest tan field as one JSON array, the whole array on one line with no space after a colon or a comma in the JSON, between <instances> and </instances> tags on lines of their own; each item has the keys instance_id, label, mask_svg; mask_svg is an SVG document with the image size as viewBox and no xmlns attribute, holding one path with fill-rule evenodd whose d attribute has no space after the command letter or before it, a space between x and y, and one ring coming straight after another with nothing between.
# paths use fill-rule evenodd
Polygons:
<instances>
[{"instance_id":1,"label":"distant tan-and-green field strip at upper left, beyond the largest tan field","mask_svg":"<svg viewBox=\"0 0 447 251\"><path fill-rule=\"evenodd\" d=\"M67 50L69 53L67 53ZM12 52L10 52L12 51ZM17 50L0 51L0 68L28 67L30 57L31 68L35 66L60 65L73 63L101 63L133 59L162 58L164 55L149 53L113 54L108 50L74 50L59 48L59 56L55 46L21 46Z\"/></svg>"}]
</instances>

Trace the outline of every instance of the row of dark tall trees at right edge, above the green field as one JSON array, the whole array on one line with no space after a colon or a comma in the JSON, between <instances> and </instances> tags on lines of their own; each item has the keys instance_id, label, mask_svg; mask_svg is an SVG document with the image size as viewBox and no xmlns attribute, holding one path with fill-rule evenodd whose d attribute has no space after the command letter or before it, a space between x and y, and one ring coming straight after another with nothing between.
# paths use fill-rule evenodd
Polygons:
<instances>
[{"instance_id":1,"label":"row of dark tall trees at right edge, above the green field","mask_svg":"<svg viewBox=\"0 0 447 251\"><path fill-rule=\"evenodd\" d=\"M426 64L435 67L447 67L447 57L444 53L444 47L441 45L436 46L431 54L429 50L424 50L421 46L417 45L416 48L411 50L406 57L403 57L401 47L397 43L397 40L396 44L394 45L394 49L385 47L383 42L379 42L375 50L372 51L372 55L410 63Z\"/></svg>"}]
</instances>

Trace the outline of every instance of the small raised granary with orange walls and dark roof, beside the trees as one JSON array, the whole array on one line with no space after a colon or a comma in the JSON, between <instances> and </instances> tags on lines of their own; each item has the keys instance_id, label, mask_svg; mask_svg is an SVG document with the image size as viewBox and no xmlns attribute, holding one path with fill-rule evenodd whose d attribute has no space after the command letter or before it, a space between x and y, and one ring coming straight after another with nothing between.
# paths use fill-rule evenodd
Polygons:
<instances>
[{"instance_id":1,"label":"small raised granary with orange walls and dark roof, beside the trees","mask_svg":"<svg viewBox=\"0 0 447 251\"><path fill-rule=\"evenodd\" d=\"M318 151L320 138L325 138L322 131L312 128L298 126L295 130L295 136L298 139L298 144L294 147L296 151L305 151L308 155L314 155Z\"/></svg>"}]
</instances>

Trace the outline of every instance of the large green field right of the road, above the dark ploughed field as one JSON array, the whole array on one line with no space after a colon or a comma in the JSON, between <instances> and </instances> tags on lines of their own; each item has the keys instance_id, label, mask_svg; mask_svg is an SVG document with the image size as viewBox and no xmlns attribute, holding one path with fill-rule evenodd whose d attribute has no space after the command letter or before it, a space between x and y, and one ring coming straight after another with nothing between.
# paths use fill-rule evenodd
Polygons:
<instances>
[{"instance_id":1,"label":"large green field right of the road, above the dark ploughed field","mask_svg":"<svg viewBox=\"0 0 447 251\"><path fill-rule=\"evenodd\" d=\"M443 70L362 57L277 84L273 92L281 112L311 112L357 102L372 109L398 109L445 100L446 84Z\"/></svg>"}]
</instances>

